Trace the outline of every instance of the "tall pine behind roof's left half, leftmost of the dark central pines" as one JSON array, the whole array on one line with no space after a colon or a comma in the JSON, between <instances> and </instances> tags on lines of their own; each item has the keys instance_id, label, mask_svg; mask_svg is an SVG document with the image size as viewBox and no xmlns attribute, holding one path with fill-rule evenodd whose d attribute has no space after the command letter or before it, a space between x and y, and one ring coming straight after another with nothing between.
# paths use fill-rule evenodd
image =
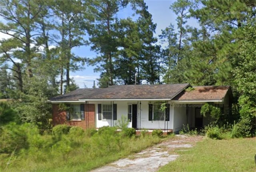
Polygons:
<instances>
[{"instance_id":1,"label":"tall pine behind roof's left half, leftmost of the dark central pines","mask_svg":"<svg viewBox=\"0 0 256 172\"><path fill-rule=\"evenodd\" d=\"M114 85L114 61L117 58L118 41L115 15L126 7L126 0L96 0L93 1L95 22L88 30L92 50L98 53L98 57L92 59L92 65L96 65L96 71L100 71L100 87Z\"/></svg>"}]
</instances>

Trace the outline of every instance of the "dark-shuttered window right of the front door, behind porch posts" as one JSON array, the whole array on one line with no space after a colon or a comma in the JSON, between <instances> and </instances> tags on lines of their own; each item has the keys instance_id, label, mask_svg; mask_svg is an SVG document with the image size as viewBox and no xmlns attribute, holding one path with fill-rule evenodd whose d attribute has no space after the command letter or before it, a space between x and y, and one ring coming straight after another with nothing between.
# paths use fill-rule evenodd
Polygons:
<instances>
[{"instance_id":1,"label":"dark-shuttered window right of the front door, behind porch posts","mask_svg":"<svg viewBox=\"0 0 256 172\"><path fill-rule=\"evenodd\" d=\"M165 110L161 110L161 104L148 104L149 121L170 121L170 104L166 104Z\"/></svg>"}]
</instances>

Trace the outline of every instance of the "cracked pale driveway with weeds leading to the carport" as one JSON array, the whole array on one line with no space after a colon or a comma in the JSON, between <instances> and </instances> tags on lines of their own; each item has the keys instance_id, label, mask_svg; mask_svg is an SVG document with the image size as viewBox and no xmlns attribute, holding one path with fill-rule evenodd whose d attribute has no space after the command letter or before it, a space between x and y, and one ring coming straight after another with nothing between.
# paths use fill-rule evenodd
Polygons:
<instances>
[{"instance_id":1,"label":"cracked pale driveway with weeds leading to the carport","mask_svg":"<svg viewBox=\"0 0 256 172\"><path fill-rule=\"evenodd\" d=\"M189 149L196 142L201 141L203 136L176 135L174 138L154 145L144 151L133 154L130 158L120 159L92 172L155 172L160 166L175 160L179 155L174 154L175 149Z\"/></svg>"}]
</instances>

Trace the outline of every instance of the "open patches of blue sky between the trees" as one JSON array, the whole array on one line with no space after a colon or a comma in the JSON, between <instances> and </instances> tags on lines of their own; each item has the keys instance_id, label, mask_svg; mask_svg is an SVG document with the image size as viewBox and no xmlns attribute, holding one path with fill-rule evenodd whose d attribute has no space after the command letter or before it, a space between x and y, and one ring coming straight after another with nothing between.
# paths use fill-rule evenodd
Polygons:
<instances>
[{"instance_id":1,"label":"open patches of blue sky between the trees","mask_svg":"<svg viewBox=\"0 0 256 172\"><path fill-rule=\"evenodd\" d=\"M157 24L154 36L158 37L158 35L161 34L161 29L165 29L170 23L172 23L175 28L177 27L176 15L170 10L170 5L175 2L175 0L145 0L145 2L148 6L148 11L152 14L153 22ZM131 15L133 12L130 9L124 9L120 13L123 16L132 17ZM188 20L188 23L186 24L190 26L198 26L196 20ZM96 57L96 53L90 51L90 47L76 48L73 52L80 56L90 58ZM99 78L100 73L94 72L94 66L85 67L85 70L72 72L70 76L74 78L76 84L78 84L80 88L85 88L85 86L87 88L92 88L94 80L97 84L97 78Z\"/></svg>"}]
</instances>

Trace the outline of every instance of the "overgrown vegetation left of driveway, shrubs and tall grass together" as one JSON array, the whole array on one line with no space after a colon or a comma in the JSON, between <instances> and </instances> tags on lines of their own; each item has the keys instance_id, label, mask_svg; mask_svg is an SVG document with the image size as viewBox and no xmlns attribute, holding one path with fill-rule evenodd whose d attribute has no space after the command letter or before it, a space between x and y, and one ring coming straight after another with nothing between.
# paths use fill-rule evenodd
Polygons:
<instances>
[{"instance_id":1,"label":"overgrown vegetation left of driveway, shrubs and tall grass together","mask_svg":"<svg viewBox=\"0 0 256 172\"><path fill-rule=\"evenodd\" d=\"M1 128L1 171L89 171L159 143L159 137L117 132L115 127L84 131L57 125L40 135L31 123Z\"/></svg>"}]
</instances>

